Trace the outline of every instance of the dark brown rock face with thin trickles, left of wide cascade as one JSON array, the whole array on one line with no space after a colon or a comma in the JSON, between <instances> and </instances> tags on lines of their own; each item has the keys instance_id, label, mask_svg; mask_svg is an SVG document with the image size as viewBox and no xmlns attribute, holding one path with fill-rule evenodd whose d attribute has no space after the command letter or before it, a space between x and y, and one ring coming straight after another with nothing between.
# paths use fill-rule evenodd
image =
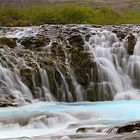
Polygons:
<instances>
[{"instance_id":1,"label":"dark brown rock face with thin trickles, left of wide cascade","mask_svg":"<svg viewBox=\"0 0 140 140\"><path fill-rule=\"evenodd\" d=\"M68 102L113 100L116 89L110 84L112 81L108 81L110 78L106 73L100 70L101 64L99 65L94 53L95 45L101 45L99 39L102 42L110 39L107 47L117 46L111 50L115 56L119 53L119 43L125 40L127 46L118 55L123 57L127 52L132 55L137 40L130 34L133 28L129 28L130 31L128 27L122 27L124 30L118 31L117 29L121 30L120 27L86 25L44 25L37 29L30 28L32 30L1 29L0 63L1 67L12 71L15 77L20 77L20 82L29 88L33 98ZM104 29L110 32L110 36L105 33L101 37ZM115 57L112 61L115 61ZM100 77L101 73L104 78ZM27 101L26 97L24 99Z\"/></svg>"}]
</instances>

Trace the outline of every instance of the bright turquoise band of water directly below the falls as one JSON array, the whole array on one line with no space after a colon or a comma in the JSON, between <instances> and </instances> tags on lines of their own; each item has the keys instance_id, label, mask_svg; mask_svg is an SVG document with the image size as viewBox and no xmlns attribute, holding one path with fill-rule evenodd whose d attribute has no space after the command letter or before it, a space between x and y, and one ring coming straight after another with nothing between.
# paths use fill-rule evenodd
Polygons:
<instances>
[{"instance_id":1,"label":"bright turquoise band of water directly below the falls","mask_svg":"<svg viewBox=\"0 0 140 140\"><path fill-rule=\"evenodd\" d=\"M113 102L82 102L82 103L35 103L23 107L3 108L0 110L0 118L10 116L22 116L39 112L95 112L99 118L122 121L140 119L140 101L113 101ZM98 114L99 113L99 114ZM98 119L99 119L98 118Z\"/></svg>"}]
</instances>

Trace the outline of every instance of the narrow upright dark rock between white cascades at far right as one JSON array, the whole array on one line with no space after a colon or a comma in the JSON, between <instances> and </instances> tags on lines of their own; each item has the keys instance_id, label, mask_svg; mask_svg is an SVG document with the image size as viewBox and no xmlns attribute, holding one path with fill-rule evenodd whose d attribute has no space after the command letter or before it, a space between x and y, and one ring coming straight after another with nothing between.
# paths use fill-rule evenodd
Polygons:
<instances>
[{"instance_id":1,"label":"narrow upright dark rock between white cascades at far right","mask_svg":"<svg viewBox=\"0 0 140 140\"><path fill-rule=\"evenodd\" d=\"M127 40L128 40L127 52L129 55L133 55L134 47L136 45L136 37L133 34L130 34L127 37Z\"/></svg>"}]
</instances>

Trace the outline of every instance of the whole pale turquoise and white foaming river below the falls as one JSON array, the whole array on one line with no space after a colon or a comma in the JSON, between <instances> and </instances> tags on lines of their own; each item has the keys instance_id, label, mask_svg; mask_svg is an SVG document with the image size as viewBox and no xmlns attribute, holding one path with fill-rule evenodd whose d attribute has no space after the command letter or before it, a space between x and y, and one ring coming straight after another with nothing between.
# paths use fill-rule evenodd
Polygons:
<instances>
[{"instance_id":1,"label":"whole pale turquoise and white foaming river below the falls","mask_svg":"<svg viewBox=\"0 0 140 140\"><path fill-rule=\"evenodd\" d=\"M31 121L34 116L44 113L53 114L42 125L42 120ZM108 127L140 120L140 101L79 102L79 103L45 103L38 102L23 107L9 107L0 110L1 122L12 119L28 118L27 126L17 124L0 124L0 138L18 138L33 136L53 136L57 134L72 135L83 126ZM49 123L48 123L49 122ZM36 127L36 123L40 124ZM49 127L47 126L48 124ZM71 124L76 124L70 128ZM4 128L4 129L3 129ZM60 133L61 132L61 133Z\"/></svg>"}]
</instances>

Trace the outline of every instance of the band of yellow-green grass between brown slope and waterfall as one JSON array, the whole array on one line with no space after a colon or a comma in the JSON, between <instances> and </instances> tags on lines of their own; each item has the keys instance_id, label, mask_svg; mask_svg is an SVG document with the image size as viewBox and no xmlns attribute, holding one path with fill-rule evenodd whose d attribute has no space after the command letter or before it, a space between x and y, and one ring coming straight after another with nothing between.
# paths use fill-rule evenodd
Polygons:
<instances>
[{"instance_id":1,"label":"band of yellow-green grass between brown slope and waterfall","mask_svg":"<svg viewBox=\"0 0 140 140\"><path fill-rule=\"evenodd\" d=\"M107 7L39 5L0 8L1 26L40 24L140 24L140 9L123 12Z\"/></svg>"}]
</instances>

